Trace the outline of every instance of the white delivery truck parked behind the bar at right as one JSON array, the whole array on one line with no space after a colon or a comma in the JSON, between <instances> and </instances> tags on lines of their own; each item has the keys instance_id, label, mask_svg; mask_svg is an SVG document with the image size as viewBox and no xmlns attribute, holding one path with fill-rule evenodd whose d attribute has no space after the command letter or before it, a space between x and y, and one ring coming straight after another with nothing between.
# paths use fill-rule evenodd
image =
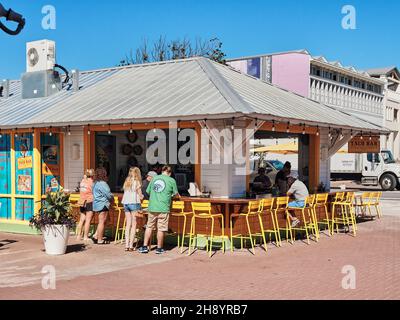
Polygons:
<instances>
[{"instance_id":1,"label":"white delivery truck parked behind the bar at right","mask_svg":"<svg viewBox=\"0 0 400 320\"><path fill-rule=\"evenodd\" d=\"M352 177L363 185L400 190L400 164L390 150L380 153L337 153L331 158L332 179Z\"/></svg>"}]
</instances>

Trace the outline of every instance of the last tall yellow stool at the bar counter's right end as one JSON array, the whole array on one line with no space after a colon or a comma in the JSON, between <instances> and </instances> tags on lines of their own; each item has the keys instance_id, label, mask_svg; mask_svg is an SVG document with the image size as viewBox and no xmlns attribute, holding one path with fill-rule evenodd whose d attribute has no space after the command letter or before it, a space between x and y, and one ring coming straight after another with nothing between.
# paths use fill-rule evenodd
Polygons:
<instances>
[{"instance_id":1,"label":"last tall yellow stool at the bar counter's right end","mask_svg":"<svg viewBox=\"0 0 400 320\"><path fill-rule=\"evenodd\" d=\"M341 201L335 201L335 204L341 208L340 211L332 210L332 234L335 232L339 232L338 225L341 224L343 226L347 226L350 231L350 227L353 228L353 235L356 235L357 225L356 225L356 217L355 217L355 209L354 209L354 192L347 192ZM340 214L338 214L340 213Z\"/></svg>"}]
</instances>

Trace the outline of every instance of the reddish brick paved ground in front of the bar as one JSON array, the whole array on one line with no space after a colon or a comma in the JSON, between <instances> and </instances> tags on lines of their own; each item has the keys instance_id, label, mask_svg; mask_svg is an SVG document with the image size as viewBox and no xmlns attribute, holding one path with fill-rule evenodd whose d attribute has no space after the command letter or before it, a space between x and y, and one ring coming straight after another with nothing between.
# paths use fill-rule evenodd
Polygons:
<instances>
[{"instance_id":1,"label":"reddish brick paved ground in front of the bar","mask_svg":"<svg viewBox=\"0 0 400 320\"><path fill-rule=\"evenodd\" d=\"M400 298L396 216L359 224L355 238L322 236L309 246L271 245L267 254L258 249L255 256L218 252L212 259L201 251L191 257L176 250L140 255L114 245L49 257L40 237L0 234L0 243L0 299ZM56 267L56 290L41 288L40 271L47 264ZM355 290L341 286L345 265L355 267Z\"/></svg>"}]
</instances>

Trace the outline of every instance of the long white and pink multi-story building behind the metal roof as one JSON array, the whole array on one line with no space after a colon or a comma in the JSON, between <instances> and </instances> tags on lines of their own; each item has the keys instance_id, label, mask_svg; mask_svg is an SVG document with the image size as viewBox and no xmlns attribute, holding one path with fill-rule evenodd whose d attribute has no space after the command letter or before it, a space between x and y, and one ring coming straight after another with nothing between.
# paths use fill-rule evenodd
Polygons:
<instances>
[{"instance_id":1,"label":"long white and pink multi-story building behind the metal roof","mask_svg":"<svg viewBox=\"0 0 400 320\"><path fill-rule=\"evenodd\" d=\"M307 50L228 60L232 67L312 100L383 125L385 82Z\"/></svg>"}]
</instances>

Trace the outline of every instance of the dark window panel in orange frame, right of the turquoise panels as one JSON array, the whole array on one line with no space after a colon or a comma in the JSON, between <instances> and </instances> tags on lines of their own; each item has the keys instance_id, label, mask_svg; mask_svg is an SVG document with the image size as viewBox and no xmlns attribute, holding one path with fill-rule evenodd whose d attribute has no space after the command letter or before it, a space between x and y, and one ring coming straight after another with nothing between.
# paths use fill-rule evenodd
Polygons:
<instances>
[{"instance_id":1,"label":"dark window panel in orange frame, right of the turquoise panels","mask_svg":"<svg viewBox=\"0 0 400 320\"><path fill-rule=\"evenodd\" d=\"M42 154L42 194L54 192L60 187L60 137L58 134L40 135Z\"/></svg>"}]
</instances>

